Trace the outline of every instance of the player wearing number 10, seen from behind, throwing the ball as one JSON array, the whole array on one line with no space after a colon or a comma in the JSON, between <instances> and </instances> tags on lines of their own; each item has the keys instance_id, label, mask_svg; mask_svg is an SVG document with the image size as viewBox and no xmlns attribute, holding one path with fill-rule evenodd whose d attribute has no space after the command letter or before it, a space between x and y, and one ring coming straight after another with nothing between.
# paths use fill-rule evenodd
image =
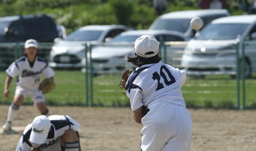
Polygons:
<instances>
[{"instance_id":1,"label":"player wearing number 10, seen from behind, throwing the ball","mask_svg":"<svg viewBox=\"0 0 256 151\"><path fill-rule=\"evenodd\" d=\"M164 64L158 48L155 37L143 35L135 41L135 57L128 57L138 66L126 82L126 94L133 119L143 125L141 150L189 151L192 121L181 90L186 73Z\"/></svg>"}]
</instances>

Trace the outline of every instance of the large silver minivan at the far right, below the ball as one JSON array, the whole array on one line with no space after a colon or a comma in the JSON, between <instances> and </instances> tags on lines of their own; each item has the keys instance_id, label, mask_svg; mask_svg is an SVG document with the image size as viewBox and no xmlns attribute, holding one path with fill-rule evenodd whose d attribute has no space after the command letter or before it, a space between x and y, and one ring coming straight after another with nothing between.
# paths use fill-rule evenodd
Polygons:
<instances>
[{"instance_id":1,"label":"large silver minivan at the far right, below the ball","mask_svg":"<svg viewBox=\"0 0 256 151\"><path fill-rule=\"evenodd\" d=\"M236 74L236 46L245 46L245 76L256 72L256 15L238 15L213 20L191 39L182 56L188 75ZM242 45L239 45L241 61Z\"/></svg>"}]
</instances>

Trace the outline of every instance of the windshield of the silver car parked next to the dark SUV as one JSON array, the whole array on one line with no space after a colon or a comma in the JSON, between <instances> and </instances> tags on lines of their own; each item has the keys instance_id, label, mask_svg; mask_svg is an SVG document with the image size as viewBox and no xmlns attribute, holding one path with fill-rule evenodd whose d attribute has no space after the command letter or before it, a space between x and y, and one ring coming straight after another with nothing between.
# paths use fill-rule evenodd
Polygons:
<instances>
[{"instance_id":1,"label":"windshield of the silver car parked next to the dark SUV","mask_svg":"<svg viewBox=\"0 0 256 151\"><path fill-rule=\"evenodd\" d=\"M103 31L81 31L76 30L69 34L65 40L70 41L92 41L99 39Z\"/></svg>"}]
</instances>

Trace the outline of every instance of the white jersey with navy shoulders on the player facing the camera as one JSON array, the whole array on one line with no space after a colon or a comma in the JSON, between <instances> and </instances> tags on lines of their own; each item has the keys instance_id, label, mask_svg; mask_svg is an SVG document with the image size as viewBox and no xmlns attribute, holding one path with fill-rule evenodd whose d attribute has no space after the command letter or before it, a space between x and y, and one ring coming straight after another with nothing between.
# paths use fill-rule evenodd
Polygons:
<instances>
[{"instance_id":1,"label":"white jersey with navy shoulders on the player facing the camera","mask_svg":"<svg viewBox=\"0 0 256 151\"><path fill-rule=\"evenodd\" d=\"M13 62L6 70L6 73L12 78L19 75L17 85L24 86L30 90L38 89L42 75L46 78L51 78L54 75L53 69L42 58L36 57L34 65L31 67L28 58L25 56Z\"/></svg>"}]
</instances>

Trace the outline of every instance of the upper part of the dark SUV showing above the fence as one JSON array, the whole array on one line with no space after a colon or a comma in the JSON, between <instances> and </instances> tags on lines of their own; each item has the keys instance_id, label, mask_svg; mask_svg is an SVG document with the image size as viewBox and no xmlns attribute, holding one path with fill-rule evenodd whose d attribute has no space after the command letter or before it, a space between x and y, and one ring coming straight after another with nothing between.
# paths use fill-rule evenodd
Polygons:
<instances>
[{"instance_id":1,"label":"upper part of the dark SUV showing above the fence","mask_svg":"<svg viewBox=\"0 0 256 151\"><path fill-rule=\"evenodd\" d=\"M53 42L58 34L54 20L47 15L0 17L0 42Z\"/></svg>"}]
</instances>

